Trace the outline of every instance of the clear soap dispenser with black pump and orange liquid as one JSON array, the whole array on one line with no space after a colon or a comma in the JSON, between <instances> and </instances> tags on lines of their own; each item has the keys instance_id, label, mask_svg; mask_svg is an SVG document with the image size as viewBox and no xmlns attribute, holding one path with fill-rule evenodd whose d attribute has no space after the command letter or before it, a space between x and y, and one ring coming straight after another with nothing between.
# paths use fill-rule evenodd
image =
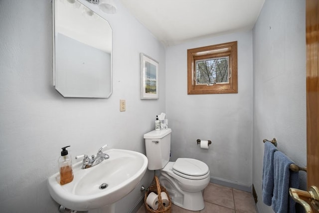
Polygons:
<instances>
[{"instance_id":1,"label":"clear soap dispenser with black pump and orange liquid","mask_svg":"<svg viewBox=\"0 0 319 213\"><path fill-rule=\"evenodd\" d=\"M58 160L61 185L73 181L72 159L71 155L68 154L68 151L66 150L68 147L70 146L62 147L61 156Z\"/></svg>"}]
</instances>

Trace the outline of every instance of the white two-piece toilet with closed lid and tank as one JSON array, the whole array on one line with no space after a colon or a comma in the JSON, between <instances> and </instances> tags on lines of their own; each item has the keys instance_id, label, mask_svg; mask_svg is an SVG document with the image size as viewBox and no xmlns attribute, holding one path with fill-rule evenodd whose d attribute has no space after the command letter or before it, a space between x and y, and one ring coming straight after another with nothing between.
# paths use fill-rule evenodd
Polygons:
<instances>
[{"instance_id":1,"label":"white two-piece toilet with closed lid and tank","mask_svg":"<svg viewBox=\"0 0 319 213\"><path fill-rule=\"evenodd\" d=\"M171 129L144 134L149 170L160 170L160 184L174 205L190 211L204 209L203 190L208 185L208 166L199 160L178 158L169 162Z\"/></svg>"}]
</instances>

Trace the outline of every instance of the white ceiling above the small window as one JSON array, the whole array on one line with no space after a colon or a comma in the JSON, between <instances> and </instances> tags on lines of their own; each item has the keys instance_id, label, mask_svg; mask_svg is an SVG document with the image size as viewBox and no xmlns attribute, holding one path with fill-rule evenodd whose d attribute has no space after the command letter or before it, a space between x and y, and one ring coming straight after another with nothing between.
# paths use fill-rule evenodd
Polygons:
<instances>
[{"instance_id":1,"label":"white ceiling above the small window","mask_svg":"<svg viewBox=\"0 0 319 213\"><path fill-rule=\"evenodd\" d=\"M252 29L265 0L119 0L161 42Z\"/></svg>"}]
</instances>

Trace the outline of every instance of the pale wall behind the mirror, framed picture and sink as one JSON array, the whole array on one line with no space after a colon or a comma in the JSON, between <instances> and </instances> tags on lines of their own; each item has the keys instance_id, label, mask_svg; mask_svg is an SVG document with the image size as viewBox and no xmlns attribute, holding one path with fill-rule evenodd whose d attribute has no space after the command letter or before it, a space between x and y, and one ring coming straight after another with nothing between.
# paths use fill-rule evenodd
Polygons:
<instances>
[{"instance_id":1,"label":"pale wall behind the mirror, framed picture and sink","mask_svg":"<svg viewBox=\"0 0 319 213\"><path fill-rule=\"evenodd\" d=\"M61 147L74 156L108 144L145 153L143 134L165 111L163 45L117 2L113 28L113 94L108 99L63 98L52 86L51 0L0 0L1 213L54 213L46 181L58 171ZM140 52L160 62L160 99L140 100ZM120 99L126 111L120 112ZM73 159L74 160L74 159ZM75 160L74 160L75 162ZM148 172L141 185L148 186ZM117 205L130 210L140 186Z\"/></svg>"}]
</instances>

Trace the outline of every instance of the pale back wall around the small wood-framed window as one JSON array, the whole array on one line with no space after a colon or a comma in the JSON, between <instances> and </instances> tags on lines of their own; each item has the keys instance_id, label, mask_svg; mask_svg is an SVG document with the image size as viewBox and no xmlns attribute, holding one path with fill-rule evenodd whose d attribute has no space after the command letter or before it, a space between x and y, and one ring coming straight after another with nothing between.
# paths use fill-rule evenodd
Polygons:
<instances>
[{"instance_id":1,"label":"pale back wall around the small wood-framed window","mask_svg":"<svg viewBox=\"0 0 319 213\"><path fill-rule=\"evenodd\" d=\"M238 41L238 93L187 95L187 49ZM192 41L166 49L166 112L171 156L196 158L210 176L252 183L252 31ZM196 139L211 140L209 150Z\"/></svg>"}]
</instances>

